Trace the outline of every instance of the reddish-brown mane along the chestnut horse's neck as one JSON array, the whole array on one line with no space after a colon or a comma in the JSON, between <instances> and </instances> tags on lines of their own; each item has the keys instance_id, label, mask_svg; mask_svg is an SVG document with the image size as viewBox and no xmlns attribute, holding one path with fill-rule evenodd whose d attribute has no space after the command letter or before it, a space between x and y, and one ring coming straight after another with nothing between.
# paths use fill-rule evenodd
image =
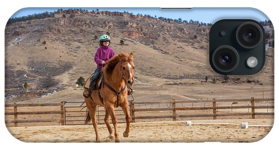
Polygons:
<instances>
[{"instance_id":1,"label":"reddish-brown mane along the chestnut horse's neck","mask_svg":"<svg viewBox=\"0 0 279 147\"><path fill-rule=\"evenodd\" d=\"M106 75L106 73L112 72L112 70L114 69L114 67L117 65L117 63L119 61L123 62L123 61L127 61L127 60L133 61L132 59L129 58L129 55L125 52L118 53L117 56L114 56L114 57L108 59L106 61L107 64L102 69L102 71L104 72L104 75Z\"/></svg>"}]
</instances>

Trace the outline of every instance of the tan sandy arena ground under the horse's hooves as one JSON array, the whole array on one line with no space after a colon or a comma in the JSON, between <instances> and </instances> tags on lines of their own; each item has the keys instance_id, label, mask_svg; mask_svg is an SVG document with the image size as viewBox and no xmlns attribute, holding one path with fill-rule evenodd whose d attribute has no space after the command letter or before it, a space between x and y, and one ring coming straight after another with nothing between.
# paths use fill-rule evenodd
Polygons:
<instances>
[{"instance_id":1,"label":"tan sandy arena ground under the horse's hooves","mask_svg":"<svg viewBox=\"0 0 279 147\"><path fill-rule=\"evenodd\" d=\"M122 136L125 124L118 124L117 129L121 142L256 142L263 139L272 127L241 129L240 123L273 124L273 119L192 120L192 123L233 123L225 125L184 126L184 122L131 123L131 132L127 138ZM101 142L114 142L108 138L106 125L98 125L98 129ZM92 125L8 127L8 130L12 136L23 142L95 142Z\"/></svg>"}]
</instances>

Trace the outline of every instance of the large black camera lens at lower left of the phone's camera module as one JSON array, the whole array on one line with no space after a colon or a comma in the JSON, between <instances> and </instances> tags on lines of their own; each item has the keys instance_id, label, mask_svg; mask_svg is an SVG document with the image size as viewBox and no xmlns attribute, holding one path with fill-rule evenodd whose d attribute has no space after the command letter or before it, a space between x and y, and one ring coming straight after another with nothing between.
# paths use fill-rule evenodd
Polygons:
<instances>
[{"instance_id":1,"label":"large black camera lens at lower left of the phone's camera module","mask_svg":"<svg viewBox=\"0 0 279 147\"><path fill-rule=\"evenodd\" d=\"M234 70L238 62L239 56L236 49L228 45L218 47L212 54L214 67L224 73Z\"/></svg>"}]
</instances>

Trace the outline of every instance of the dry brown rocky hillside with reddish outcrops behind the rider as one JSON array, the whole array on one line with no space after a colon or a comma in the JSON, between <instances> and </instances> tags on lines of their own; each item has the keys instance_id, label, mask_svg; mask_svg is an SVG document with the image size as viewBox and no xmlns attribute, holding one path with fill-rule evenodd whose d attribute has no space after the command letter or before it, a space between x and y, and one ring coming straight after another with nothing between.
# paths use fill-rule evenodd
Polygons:
<instances>
[{"instance_id":1,"label":"dry brown rocky hillside with reddish outcrops behind the rider","mask_svg":"<svg viewBox=\"0 0 279 147\"><path fill-rule=\"evenodd\" d=\"M209 30L210 26L196 23L109 11L61 10L54 17L15 22L5 28L5 98L40 97L73 86L80 76L87 78L96 68L95 35L99 38L107 32L115 53L134 53L139 81L221 77L209 65ZM274 38L274 30L267 35ZM272 47L272 39L269 42ZM271 56L255 80L270 83L272 51L269 49Z\"/></svg>"}]
</instances>

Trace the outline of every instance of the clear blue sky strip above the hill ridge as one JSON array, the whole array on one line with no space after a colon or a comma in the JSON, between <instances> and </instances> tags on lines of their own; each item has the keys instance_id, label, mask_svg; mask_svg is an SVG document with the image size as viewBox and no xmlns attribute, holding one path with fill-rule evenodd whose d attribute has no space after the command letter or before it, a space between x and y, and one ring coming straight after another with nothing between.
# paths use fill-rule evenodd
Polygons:
<instances>
[{"instance_id":1,"label":"clear blue sky strip above the hill ridge","mask_svg":"<svg viewBox=\"0 0 279 147\"><path fill-rule=\"evenodd\" d=\"M32 14L38 14L42 12L54 12L57 9L67 10L69 7L47 7L47 8L23 8L15 12L11 18L27 16ZM79 9L80 7L71 7ZM159 7L155 8L129 8L129 7L117 7L117 8L106 8L106 7L81 7L82 10L96 10L99 11L128 11L129 13L142 14L142 15L151 15L160 17L166 17L171 19L178 19L181 18L182 20L198 20L199 22L203 23L215 23L220 19L254 19L257 21L268 20L268 17L261 11L255 8L192 8L192 9L161 9Z\"/></svg>"}]
</instances>

